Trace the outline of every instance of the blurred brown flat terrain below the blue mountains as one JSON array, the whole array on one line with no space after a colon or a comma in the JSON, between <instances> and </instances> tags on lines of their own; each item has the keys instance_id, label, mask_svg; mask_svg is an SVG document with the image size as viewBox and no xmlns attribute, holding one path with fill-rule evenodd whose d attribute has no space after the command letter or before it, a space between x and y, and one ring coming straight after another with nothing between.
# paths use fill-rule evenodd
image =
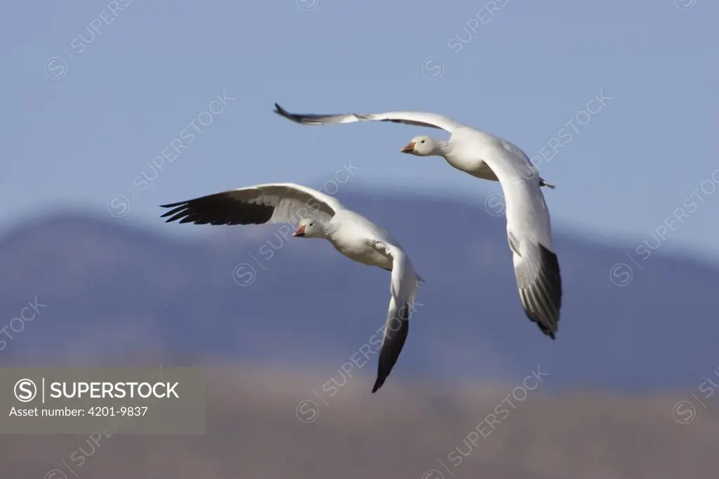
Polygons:
<instances>
[{"instance_id":1,"label":"blurred brown flat terrain below the blue mountains","mask_svg":"<svg viewBox=\"0 0 719 479\"><path fill-rule=\"evenodd\" d=\"M369 373L345 381L336 371L209 368L206 434L112 435L97 445L88 436L2 436L1 470L6 478L38 479L677 479L717 472L719 406L704 408L687 391L557 391L551 375L527 380L534 389L526 391L393 375L370 394ZM325 388L330 397L323 385L332 377L344 386ZM686 403L673 411L682 400L695 403L695 415Z\"/></svg>"}]
</instances>

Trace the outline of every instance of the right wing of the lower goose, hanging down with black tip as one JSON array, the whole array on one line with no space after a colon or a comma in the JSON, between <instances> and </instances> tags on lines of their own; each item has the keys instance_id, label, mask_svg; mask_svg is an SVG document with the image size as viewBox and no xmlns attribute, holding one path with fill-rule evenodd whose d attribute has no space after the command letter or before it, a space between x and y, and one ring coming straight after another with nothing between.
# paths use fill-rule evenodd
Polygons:
<instances>
[{"instance_id":1,"label":"right wing of the lower goose, hanging down with black tip","mask_svg":"<svg viewBox=\"0 0 719 479\"><path fill-rule=\"evenodd\" d=\"M392 257L390 306L385 321L380 360L377 364L377 380L372 388L372 393L376 393L390 375L407 340L410 309L417 289L418 276L409 257L399 247L377 239L370 239L370 244L383 255Z\"/></svg>"}]
</instances>

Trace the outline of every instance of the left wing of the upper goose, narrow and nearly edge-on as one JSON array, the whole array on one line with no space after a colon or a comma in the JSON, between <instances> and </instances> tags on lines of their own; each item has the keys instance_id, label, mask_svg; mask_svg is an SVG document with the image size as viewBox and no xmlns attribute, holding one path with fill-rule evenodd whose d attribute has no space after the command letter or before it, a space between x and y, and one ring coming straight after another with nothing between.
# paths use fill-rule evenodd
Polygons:
<instances>
[{"instance_id":1,"label":"left wing of the upper goose, narrow and nearly edge-on","mask_svg":"<svg viewBox=\"0 0 719 479\"><path fill-rule=\"evenodd\" d=\"M420 127L439 128L450 133L457 128L464 127L463 124L455 122L451 118L434 113L424 113L422 111L388 111L387 113L370 114L298 114L290 113L275 103L275 113L299 124L394 122L413 124Z\"/></svg>"}]
</instances>

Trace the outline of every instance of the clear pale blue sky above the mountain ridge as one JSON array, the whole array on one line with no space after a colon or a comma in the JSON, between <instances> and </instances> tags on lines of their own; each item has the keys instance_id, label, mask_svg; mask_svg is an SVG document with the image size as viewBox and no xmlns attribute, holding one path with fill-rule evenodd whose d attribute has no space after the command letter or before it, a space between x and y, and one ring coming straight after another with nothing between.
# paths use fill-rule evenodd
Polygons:
<instances>
[{"instance_id":1,"label":"clear pale blue sky above the mountain ridge","mask_svg":"<svg viewBox=\"0 0 719 479\"><path fill-rule=\"evenodd\" d=\"M129 201L117 221L161 227L159 204L320 186L350 160L347 184L476 199L478 214L500 191L398 152L441 132L303 127L273 114L277 101L454 117L544 154L555 228L633 247L664 224L667 250L719 260L717 18L709 0L13 2L0 19L0 234L47 209L103 213L115 195Z\"/></svg>"}]
</instances>

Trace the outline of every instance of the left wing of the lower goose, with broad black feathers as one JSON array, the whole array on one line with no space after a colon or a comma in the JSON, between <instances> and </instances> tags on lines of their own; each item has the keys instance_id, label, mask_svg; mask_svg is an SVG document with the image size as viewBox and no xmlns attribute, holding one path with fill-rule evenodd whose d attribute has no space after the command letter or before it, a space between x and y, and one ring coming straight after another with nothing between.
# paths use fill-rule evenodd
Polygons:
<instances>
[{"instance_id":1,"label":"left wing of the lower goose, with broad black feathers","mask_svg":"<svg viewBox=\"0 0 719 479\"><path fill-rule=\"evenodd\" d=\"M167 222L264 224L298 222L314 216L329 221L342 204L329 195L295 183L267 183L164 204Z\"/></svg>"}]
</instances>

